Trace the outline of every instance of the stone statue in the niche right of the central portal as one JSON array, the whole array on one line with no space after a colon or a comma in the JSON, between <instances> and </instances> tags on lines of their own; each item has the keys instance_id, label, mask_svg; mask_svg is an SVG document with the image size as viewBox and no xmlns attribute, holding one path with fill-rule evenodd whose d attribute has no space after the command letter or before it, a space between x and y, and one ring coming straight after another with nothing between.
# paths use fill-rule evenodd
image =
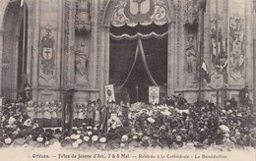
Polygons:
<instances>
[{"instance_id":1,"label":"stone statue in the niche right of the central portal","mask_svg":"<svg viewBox=\"0 0 256 161\"><path fill-rule=\"evenodd\" d=\"M187 72L189 74L196 73L197 51L195 46L195 38L192 33L188 34L188 44L186 46Z\"/></svg>"}]
</instances>

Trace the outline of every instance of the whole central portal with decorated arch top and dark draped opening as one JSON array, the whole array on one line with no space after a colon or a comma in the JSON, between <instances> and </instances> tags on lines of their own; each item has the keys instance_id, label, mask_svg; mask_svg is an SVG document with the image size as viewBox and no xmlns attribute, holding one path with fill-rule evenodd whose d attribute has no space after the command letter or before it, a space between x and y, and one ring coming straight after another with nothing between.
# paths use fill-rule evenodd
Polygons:
<instances>
[{"instance_id":1,"label":"whole central portal with decorated arch top and dark draped opening","mask_svg":"<svg viewBox=\"0 0 256 161\"><path fill-rule=\"evenodd\" d=\"M172 2L165 0L106 3L101 63L108 71L103 72L101 84L114 83L116 88L125 89L132 103L148 102L149 85L164 86L168 88L165 94L170 92L169 56L174 39L171 42L170 33L175 20L171 8Z\"/></svg>"}]
</instances>

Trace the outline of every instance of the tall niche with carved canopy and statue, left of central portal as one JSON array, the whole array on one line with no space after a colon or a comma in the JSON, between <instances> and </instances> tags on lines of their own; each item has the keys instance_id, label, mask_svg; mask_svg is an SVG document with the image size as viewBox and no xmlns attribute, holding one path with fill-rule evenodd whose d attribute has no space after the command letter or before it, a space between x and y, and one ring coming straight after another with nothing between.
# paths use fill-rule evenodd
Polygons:
<instances>
[{"instance_id":1,"label":"tall niche with carved canopy and statue, left of central portal","mask_svg":"<svg viewBox=\"0 0 256 161\"><path fill-rule=\"evenodd\" d=\"M75 84L89 87L89 63L91 51L91 13L89 0L76 1L75 13Z\"/></svg>"}]
</instances>

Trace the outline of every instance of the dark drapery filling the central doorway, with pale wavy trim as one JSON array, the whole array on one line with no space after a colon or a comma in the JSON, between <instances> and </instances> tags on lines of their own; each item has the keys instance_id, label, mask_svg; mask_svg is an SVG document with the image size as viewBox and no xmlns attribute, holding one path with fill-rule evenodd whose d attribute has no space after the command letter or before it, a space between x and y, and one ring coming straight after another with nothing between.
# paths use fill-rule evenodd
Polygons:
<instances>
[{"instance_id":1,"label":"dark drapery filling the central doorway, with pale wavy trim","mask_svg":"<svg viewBox=\"0 0 256 161\"><path fill-rule=\"evenodd\" d=\"M163 86L167 81L167 34L164 34L166 27L167 25L155 24L147 27L111 27L111 33L115 36L110 36L109 81L115 86L121 86L125 82L123 87L127 88L132 103L137 101L136 86L139 87L138 100L148 102L148 86ZM149 36L152 32L155 36ZM143 36L127 38L138 33ZM129 36L122 37L123 34ZM138 39L141 39L141 46L137 51L139 53L136 52Z\"/></svg>"}]
</instances>

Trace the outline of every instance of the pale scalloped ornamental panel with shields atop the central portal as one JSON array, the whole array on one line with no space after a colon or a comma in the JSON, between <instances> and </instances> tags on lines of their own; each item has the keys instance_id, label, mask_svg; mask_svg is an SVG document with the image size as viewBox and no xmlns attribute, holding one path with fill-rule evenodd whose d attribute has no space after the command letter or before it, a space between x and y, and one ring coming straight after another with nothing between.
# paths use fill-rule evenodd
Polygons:
<instances>
[{"instance_id":1,"label":"pale scalloped ornamental panel with shields atop the central portal","mask_svg":"<svg viewBox=\"0 0 256 161\"><path fill-rule=\"evenodd\" d=\"M111 24L116 27L127 24L134 27L138 23L149 25L153 22L163 25L167 22L167 9L164 0L118 0Z\"/></svg>"}]
</instances>

